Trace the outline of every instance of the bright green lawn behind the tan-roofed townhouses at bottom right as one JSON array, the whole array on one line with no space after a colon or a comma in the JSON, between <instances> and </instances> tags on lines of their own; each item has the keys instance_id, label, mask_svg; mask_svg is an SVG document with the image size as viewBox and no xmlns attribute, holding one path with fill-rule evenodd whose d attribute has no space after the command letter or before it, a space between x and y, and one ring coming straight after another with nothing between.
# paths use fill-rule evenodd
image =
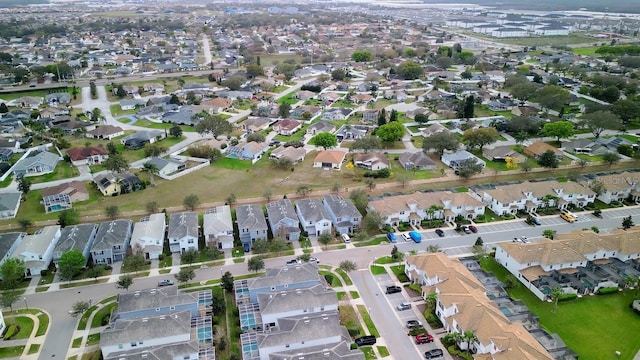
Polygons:
<instances>
[{"instance_id":1,"label":"bright green lawn behind the tan-roofed townhouses at bottom right","mask_svg":"<svg viewBox=\"0 0 640 360\"><path fill-rule=\"evenodd\" d=\"M508 271L491 257L484 258L482 268L503 280ZM633 359L640 350L640 316L629 307L633 292L587 296L558 304L540 301L524 285L509 290L539 317L542 327L557 333L580 359ZM620 357L614 354L621 352Z\"/></svg>"}]
</instances>

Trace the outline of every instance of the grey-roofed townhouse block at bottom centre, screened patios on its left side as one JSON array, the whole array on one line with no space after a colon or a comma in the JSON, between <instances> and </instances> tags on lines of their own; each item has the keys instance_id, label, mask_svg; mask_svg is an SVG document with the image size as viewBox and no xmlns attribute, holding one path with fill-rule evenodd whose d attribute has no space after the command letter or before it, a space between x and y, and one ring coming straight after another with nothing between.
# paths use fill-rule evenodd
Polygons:
<instances>
[{"instance_id":1,"label":"grey-roofed townhouse block at bottom centre, screened patios on its left side","mask_svg":"<svg viewBox=\"0 0 640 360\"><path fill-rule=\"evenodd\" d=\"M340 325L338 298L314 263L235 282L243 360L363 360Z\"/></svg>"}]
</instances>

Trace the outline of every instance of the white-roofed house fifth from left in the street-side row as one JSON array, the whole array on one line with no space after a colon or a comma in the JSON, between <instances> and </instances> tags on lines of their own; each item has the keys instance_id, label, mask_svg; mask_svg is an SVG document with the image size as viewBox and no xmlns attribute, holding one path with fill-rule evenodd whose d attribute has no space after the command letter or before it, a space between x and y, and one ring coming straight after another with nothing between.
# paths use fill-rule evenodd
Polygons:
<instances>
[{"instance_id":1,"label":"white-roofed house fifth from left in the street-side row","mask_svg":"<svg viewBox=\"0 0 640 360\"><path fill-rule=\"evenodd\" d=\"M158 260L164 246L165 214L151 214L133 225L131 248L146 260Z\"/></svg>"}]
</instances>

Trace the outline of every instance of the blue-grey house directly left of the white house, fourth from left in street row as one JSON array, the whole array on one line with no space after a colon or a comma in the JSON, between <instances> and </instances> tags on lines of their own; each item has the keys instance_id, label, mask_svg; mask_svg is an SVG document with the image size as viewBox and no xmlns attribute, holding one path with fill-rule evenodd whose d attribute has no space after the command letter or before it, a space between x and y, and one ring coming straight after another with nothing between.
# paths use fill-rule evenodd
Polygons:
<instances>
[{"instance_id":1,"label":"blue-grey house directly left of the white house, fourth from left in street row","mask_svg":"<svg viewBox=\"0 0 640 360\"><path fill-rule=\"evenodd\" d=\"M91 247L91 257L96 265L110 265L122 261L131 240L131 220L113 220L100 223Z\"/></svg>"}]
</instances>

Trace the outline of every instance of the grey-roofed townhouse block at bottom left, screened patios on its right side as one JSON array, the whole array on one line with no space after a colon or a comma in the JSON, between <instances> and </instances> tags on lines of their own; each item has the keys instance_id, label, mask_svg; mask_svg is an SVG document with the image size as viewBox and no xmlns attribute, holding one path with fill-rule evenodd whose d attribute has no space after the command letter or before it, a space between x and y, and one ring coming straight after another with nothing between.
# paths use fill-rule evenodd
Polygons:
<instances>
[{"instance_id":1,"label":"grey-roofed townhouse block at bottom left, screened patios on its right side","mask_svg":"<svg viewBox=\"0 0 640 360\"><path fill-rule=\"evenodd\" d=\"M215 360L211 290L177 286L122 292L100 336L111 359Z\"/></svg>"}]
</instances>

